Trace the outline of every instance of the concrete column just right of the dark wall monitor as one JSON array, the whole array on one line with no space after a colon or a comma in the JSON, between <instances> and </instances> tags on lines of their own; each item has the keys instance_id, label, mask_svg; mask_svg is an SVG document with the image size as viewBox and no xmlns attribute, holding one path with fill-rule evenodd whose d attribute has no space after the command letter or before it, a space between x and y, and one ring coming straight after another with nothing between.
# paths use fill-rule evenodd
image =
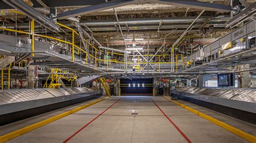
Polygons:
<instances>
[{"instance_id":1,"label":"concrete column just right of the dark wall monitor","mask_svg":"<svg viewBox=\"0 0 256 143\"><path fill-rule=\"evenodd\" d=\"M250 64L239 66L239 70L249 69ZM250 88L251 73L250 71L244 71L238 73L238 88Z\"/></svg>"}]
</instances>

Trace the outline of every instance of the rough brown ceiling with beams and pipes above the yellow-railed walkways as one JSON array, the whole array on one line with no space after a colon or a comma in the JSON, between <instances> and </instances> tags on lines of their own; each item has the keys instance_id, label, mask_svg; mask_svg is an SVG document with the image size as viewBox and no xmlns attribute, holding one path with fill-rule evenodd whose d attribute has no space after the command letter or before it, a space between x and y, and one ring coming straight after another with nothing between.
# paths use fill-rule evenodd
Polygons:
<instances>
[{"instance_id":1,"label":"rough brown ceiling with beams and pipes above the yellow-railed walkways","mask_svg":"<svg viewBox=\"0 0 256 143\"><path fill-rule=\"evenodd\" d=\"M254 0L246 2L252 4ZM79 25L100 44L92 41L92 45L121 51L125 50L125 45L132 47L133 44L139 48L143 47L142 53L147 52L147 46L149 46L149 54L156 53L163 45L164 49L161 49L160 53L170 51L171 45L199 15L192 28L180 40L175 54L183 54L185 57L191 55L199 50L200 45L211 44L236 28L226 28L225 23L231 19L231 4L230 1L224 0L80 0L76 3L69 0L32 0L32 3L33 8L45 16L50 7L57 8L57 22L71 28L76 29L76 25L69 18L79 19ZM0 9L2 9L0 18L3 26L30 31L28 18L25 15L10 11L13 8L3 1L0 2ZM213 27L213 30L210 27ZM72 32L68 29L60 30L57 34L36 23L35 33L54 35L60 39L72 41ZM20 36L23 35L20 34ZM124 41L124 39L128 40ZM80 45L81 41L78 37L75 38L75 43Z\"/></svg>"}]
</instances>

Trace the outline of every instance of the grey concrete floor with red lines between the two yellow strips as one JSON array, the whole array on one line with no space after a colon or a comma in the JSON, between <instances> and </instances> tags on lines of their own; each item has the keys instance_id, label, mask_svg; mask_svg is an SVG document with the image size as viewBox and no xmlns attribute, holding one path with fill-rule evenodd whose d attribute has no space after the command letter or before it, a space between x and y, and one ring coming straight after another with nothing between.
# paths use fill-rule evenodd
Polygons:
<instances>
[{"instance_id":1,"label":"grey concrete floor with red lines between the two yellow strips","mask_svg":"<svg viewBox=\"0 0 256 143\"><path fill-rule=\"evenodd\" d=\"M138 110L138 115L130 110ZM152 96L111 97L8 142L63 142L69 137L68 142L187 142L184 136L192 142L247 142L163 97Z\"/></svg>"}]
</instances>

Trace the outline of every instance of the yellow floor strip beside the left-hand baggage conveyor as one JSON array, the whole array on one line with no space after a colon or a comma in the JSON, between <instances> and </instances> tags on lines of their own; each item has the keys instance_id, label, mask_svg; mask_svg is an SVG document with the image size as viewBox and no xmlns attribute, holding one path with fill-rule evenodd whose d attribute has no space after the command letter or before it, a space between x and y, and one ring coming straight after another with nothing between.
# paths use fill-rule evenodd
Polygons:
<instances>
[{"instance_id":1,"label":"yellow floor strip beside the left-hand baggage conveyor","mask_svg":"<svg viewBox=\"0 0 256 143\"><path fill-rule=\"evenodd\" d=\"M23 127L19 130L16 130L14 132L11 132L11 133L8 133L8 134L5 134L5 135L2 135L0 137L0 142L5 142L5 141L8 141L10 139L13 139L13 138L16 138L18 137L19 135L22 135L22 134L25 134L25 133L28 133L32 130L35 130L36 128L38 127L41 127L41 126L44 126L46 124L49 124L49 123L52 123L53 121L55 120L58 120L60 118L63 118L63 117L66 117L66 116L69 116L71 115L72 113L75 113L79 110L82 110L84 108L87 108L93 104L96 104L96 103L99 103L101 101L103 101L104 99L107 99L109 97L104 97L104 98L101 98L101 99L98 99L97 101L93 101L91 103L88 103L88 104L85 104L85 105L82 105L80 106L79 108L76 108L76 109L73 109L73 110L70 110L70 111L67 111L67 112L64 112L64 113L61 113L57 116L54 116L54 117L51 117L51 118L48 118L48 119L45 119L45 120L42 120L42 121L39 121L38 123L35 123L35 124L32 124L30 126L26 126L26 127Z\"/></svg>"}]
</instances>

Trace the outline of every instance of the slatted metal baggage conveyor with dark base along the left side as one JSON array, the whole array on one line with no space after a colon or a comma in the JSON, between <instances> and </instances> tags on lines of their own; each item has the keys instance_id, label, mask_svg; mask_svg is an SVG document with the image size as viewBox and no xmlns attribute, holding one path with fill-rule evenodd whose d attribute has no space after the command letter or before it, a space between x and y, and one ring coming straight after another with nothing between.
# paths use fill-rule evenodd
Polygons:
<instances>
[{"instance_id":1,"label":"slatted metal baggage conveyor with dark base along the left side","mask_svg":"<svg viewBox=\"0 0 256 143\"><path fill-rule=\"evenodd\" d=\"M0 92L0 126L100 97L90 88L9 90Z\"/></svg>"}]
</instances>

